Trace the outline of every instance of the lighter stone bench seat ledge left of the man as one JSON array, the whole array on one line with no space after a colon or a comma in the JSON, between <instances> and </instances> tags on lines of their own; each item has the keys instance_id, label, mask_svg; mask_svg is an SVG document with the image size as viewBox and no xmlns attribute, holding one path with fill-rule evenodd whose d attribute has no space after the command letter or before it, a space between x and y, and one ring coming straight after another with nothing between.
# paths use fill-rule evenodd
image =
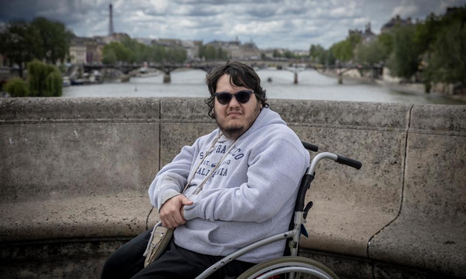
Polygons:
<instances>
[{"instance_id":1,"label":"lighter stone bench seat ledge left of the man","mask_svg":"<svg viewBox=\"0 0 466 279\"><path fill-rule=\"evenodd\" d=\"M146 231L147 194L133 192L88 197L4 202L0 242L102 236L136 236Z\"/></svg>"}]
</instances>

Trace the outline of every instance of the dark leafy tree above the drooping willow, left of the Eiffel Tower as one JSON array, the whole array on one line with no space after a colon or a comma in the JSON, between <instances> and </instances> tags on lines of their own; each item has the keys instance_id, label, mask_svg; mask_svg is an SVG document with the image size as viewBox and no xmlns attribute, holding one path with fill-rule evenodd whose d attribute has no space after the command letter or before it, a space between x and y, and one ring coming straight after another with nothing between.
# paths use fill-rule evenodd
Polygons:
<instances>
[{"instance_id":1,"label":"dark leafy tree above the drooping willow, left of the Eiffel Tower","mask_svg":"<svg viewBox=\"0 0 466 279\"><path fill-rule=\"evenodd\" d=\"M57 61L64 62L73 36L73 33L67 30L65 24L40 16L34 18L31 26L39 31L42 40L42 48L36 58L45 59L45 61L52 64Z\"/></svg>"}]
</instances>

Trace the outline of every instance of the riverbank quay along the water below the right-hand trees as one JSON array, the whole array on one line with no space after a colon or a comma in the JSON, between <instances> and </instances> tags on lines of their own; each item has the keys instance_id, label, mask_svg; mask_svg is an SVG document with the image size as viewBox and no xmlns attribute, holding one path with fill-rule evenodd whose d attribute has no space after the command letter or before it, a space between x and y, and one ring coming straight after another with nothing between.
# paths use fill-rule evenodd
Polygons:
<instances>
[{"instance_id":1,"label":"riverbank quay along the water below the right-hand trees","mask_svg":"<svg viewBox=\"0 0 466 279\"><path fill-rule=\"evenodd\" d=\"M327 77L332 77L332 78L338 78L338 74L334 72L333 70L326 70L326 71L320 71L317 70L319 74L322 74ZM370 78L370 77L361 77L359 72L354 69L350 70L346 73L343 74L343 82L344 80L351 80L351 81L357 81L361 82L364 84L373 84L373 85L379 85L382 87L385 87L391 91L396 91L400 93L408 93L408 94L416 94L416 95L431 95L431 96L438 96L438 97L445 97L453 100L458 100L461 102L466 103L466 95L465 94L446 94L441 91L436 91L435 89L437 87L433 88L433 91L430 93L425 92L425 87L423 83L399 83L399 82L393 82L393 81L387 81L383 79L376 79L376 78Z\"/></svg>"}]
</instances>

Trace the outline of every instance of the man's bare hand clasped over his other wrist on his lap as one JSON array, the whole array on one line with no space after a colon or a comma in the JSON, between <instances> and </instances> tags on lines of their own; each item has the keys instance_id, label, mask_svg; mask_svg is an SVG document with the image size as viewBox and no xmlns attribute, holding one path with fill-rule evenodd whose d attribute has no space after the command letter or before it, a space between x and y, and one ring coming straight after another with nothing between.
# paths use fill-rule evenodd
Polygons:
<instances>
[{"instance_id":1,"label":"man's bare hand clasped over his other wrist on his lap","mask_svg":"<svg viewBox=\"0 0 466 279\"><path fill-rule=\"evenodd\" d=\"M193 204L193 202L183 195L174 196L166 201L159 211L162 225L168 229L175 229L186 223L183 216L183 206L191 204Z\"/></svg>"}]
</instances>

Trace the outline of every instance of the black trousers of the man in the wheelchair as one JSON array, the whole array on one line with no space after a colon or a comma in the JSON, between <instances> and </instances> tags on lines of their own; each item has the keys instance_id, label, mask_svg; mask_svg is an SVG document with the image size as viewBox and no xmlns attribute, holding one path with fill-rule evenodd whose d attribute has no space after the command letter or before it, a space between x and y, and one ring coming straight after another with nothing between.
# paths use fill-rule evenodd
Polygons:
<instances>
[{"instance_id":1,"label":"black trousers of the man in the wheelchair","mask_svg":"<svg viewBox=\"0 0 466 279\"><path fill-rule=\"evenodd\" d=\"M223 258L181 248L176 246L172 239L164 254L144 268L146 257L143 254L151 232L152 230L142 233L118 248L103 265L100 278L193 279ZM209 279L235 278L253 265L254 263L235 260L217 270Z\"/></svg>"}]
</instances>

